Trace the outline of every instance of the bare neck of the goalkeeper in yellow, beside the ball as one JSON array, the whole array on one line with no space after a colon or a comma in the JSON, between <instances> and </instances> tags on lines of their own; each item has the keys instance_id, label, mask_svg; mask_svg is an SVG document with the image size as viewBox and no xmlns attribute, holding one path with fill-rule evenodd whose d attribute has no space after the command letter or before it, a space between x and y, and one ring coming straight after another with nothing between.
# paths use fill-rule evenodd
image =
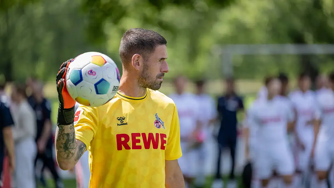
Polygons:
<instances>
[{"instance_id":1,"label":"bare neck of the goalkeeper in yellow, beside the ball","mask_svg":"<svg viewBox=\"0 0 334 188\"><path fill-rule=\"evenodd\" d=\"M146 88L138 86L137 78L123 72L119 92L129 97L143 97L146 95Z\"/></svg>"}]
</instances>

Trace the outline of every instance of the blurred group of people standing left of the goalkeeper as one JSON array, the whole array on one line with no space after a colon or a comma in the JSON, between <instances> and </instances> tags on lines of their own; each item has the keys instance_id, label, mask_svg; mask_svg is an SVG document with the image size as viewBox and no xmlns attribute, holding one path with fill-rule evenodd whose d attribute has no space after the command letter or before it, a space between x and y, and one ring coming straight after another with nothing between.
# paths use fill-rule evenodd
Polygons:
<instances>
[{"instance_id":1,"label":"blurred group of people standing left of the goalkeeper","mask_svg":"<svg viewBox=\"0 0 334 188\"><path fill-rule=\"evenodd\" d=\"M36 188L36 177L46 186L43 170L47 168L55 187L62 188L53 158L51 103L43 95L43 83L28 78L25 84L13 84L10 90L8 96L5 83L0 84L1 124L4 130L10 127L1 136L0 155L2 160L7 156L9 164L8 168L1 166L4 169L1 186Z\"/></svg>"}]
</instances>

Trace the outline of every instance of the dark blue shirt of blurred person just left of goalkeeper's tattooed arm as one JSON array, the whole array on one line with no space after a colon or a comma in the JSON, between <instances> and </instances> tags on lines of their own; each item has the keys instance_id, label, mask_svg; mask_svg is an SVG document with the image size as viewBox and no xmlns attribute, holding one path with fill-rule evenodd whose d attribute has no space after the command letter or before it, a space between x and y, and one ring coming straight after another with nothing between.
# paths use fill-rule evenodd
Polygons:
<instances>
[{"instance_id":1,"label":"dark blue shirt of blurred person just left of goalkeeper's tattooed arm","mask_svg":"<svg viewBox=\"0 0 334 188\"><path fill-rule=\"evenodd\" d=\"M50 102L45 98L43 98L41 102L37 102L37 100L33 96L28 97L28 102L31 105L32 109L35 111L37 120L36 140L38 140L42 134L45 121L51 120L51 105Z\"/></svg>"}]
</instances>

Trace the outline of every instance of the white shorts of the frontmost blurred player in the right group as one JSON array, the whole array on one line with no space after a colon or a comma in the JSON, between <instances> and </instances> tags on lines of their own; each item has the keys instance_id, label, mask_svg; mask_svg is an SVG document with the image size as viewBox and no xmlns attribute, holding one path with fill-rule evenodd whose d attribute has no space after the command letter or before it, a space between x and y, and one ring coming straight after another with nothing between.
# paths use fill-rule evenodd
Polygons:
<instances>
[{"instance_id":1,"label":"white shorts of the frontmost blurred player in the right group","mask_svg":"<svg viewBox=\"0 0 334 188\"><path fill-rule=\"evenodd\" d=\"M259 179L269 179L274 170L279 175L292 175L295 168L288 143L258 145L254 167Z\"/></svg>"}]
</instances>

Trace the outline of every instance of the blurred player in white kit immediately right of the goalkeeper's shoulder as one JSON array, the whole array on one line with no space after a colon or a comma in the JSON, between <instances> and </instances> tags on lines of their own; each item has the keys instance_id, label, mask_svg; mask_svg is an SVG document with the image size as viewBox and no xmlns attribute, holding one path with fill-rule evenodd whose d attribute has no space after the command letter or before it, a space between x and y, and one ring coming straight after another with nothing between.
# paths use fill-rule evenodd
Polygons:
<instances>
[{"instance_id":1,"label":"blurred player in white kit immediately right of the goalkeeper's shoulder","mask_svg":"<svg viewBox=\"0 0 334 188\"><path fill-rule=\"evenodd\" d=\"M180 141L182 157L178 159L186 187L193 186L199 166L199 152L204 137L200 134L202 112L197 98L192 93L185 92L187 79L178 76L174 80L176 93L169 97L173 99L180 121Z\"/></svg>"}]
</instances>

